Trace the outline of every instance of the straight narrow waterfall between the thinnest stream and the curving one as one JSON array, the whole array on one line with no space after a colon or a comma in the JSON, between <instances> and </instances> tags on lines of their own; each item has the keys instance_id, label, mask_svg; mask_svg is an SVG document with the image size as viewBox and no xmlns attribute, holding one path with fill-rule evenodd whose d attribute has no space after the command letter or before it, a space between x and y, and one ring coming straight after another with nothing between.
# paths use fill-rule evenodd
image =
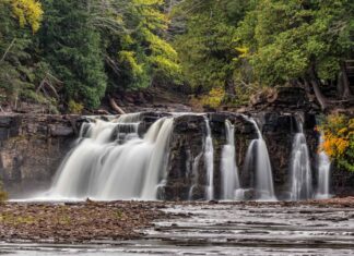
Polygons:
<instances>
[{"instance_id":1,"label":"straight narrow waterfall between the thinnest stream and the curving one","mask_svg":"<svg viewBox=\"0 0 354 256\"><path fill-rule=\"evenodd\" d=\"M239 188L238 169L235 153L235 127L226 120L226 145L223 147L221 172L222 172L222 198L234 199L236 190Z\"/></svg>"}]
</instances>

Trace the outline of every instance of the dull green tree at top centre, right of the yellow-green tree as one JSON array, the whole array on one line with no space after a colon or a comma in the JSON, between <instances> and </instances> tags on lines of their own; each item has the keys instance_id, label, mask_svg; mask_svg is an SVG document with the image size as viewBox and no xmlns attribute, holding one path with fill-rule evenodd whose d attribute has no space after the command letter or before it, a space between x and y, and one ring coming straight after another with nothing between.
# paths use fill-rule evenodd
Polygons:
<instances>
[{"instance_id":1,"label":"dull green tree at top centre, right of the yellow-green tree","mask_svg":"<svg viewBox=\"0 0 354 256\"><path fill-rule=\"evenodd\" d=\"M186 20L186 33L176 37L175 46L185 78L197 90L217 87L225 92L217 94L222 97L235 94L245 53L236 28L249 7L248 1L188 0L176 8L175 15Z\"/></svg>"}]
</instances>

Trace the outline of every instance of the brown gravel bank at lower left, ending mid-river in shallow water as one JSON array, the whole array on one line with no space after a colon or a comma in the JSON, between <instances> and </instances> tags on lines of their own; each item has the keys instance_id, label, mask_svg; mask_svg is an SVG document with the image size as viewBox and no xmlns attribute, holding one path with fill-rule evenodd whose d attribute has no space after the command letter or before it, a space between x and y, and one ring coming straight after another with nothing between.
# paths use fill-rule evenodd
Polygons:
<instances>
[{"instance_id":1,"label":"brown gravel bank at lower left, ending mid-river in shallow water","mask_svg":"<svg viewBox=\"0 0 354 256\"><path fill-rule=\"evenodd\" d=\"M163 203L4 203L0 241L85 243L131 240L153 220L167 218Z\"/></svg>"}]
</instances>

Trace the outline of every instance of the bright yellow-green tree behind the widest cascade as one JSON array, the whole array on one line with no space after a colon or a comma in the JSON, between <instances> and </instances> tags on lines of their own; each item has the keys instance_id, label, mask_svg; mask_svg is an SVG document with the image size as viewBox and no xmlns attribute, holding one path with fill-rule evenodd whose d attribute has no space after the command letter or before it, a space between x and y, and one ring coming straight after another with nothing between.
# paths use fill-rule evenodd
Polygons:
<instances>
[{"instance_id":1,"label":"bright yellow-green tree behind the widest cascade","mask_svg":"<svg viewBox=\"0 0 354 256\"><path fill-rule=\"evenodd\" d=\"M111 92L158 81L178 83L180 68L177 52L164 38L168 19L162 7L161 0L130 0L122 12L115 12L123 29L103 33Z\"/></svg>"}]
</instances>

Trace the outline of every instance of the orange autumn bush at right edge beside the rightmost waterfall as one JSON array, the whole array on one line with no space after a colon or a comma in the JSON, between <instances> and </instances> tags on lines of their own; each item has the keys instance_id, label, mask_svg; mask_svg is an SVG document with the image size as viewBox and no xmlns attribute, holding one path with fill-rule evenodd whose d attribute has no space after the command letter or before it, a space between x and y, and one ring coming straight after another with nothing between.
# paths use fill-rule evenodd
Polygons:
<instances>
[{"instance_id":1,"label":"orange autumn bush at right edge beside the rightmost waterfall","mask_svg":"<svg viewBox=\"0 0 354 256\"><path fill-rule=\"evenodd\" d=\"M339 167L354 171L354 119L344 114L331 114L318 130L324 135L321 149Z\"/></svg>"}]
</instances>

